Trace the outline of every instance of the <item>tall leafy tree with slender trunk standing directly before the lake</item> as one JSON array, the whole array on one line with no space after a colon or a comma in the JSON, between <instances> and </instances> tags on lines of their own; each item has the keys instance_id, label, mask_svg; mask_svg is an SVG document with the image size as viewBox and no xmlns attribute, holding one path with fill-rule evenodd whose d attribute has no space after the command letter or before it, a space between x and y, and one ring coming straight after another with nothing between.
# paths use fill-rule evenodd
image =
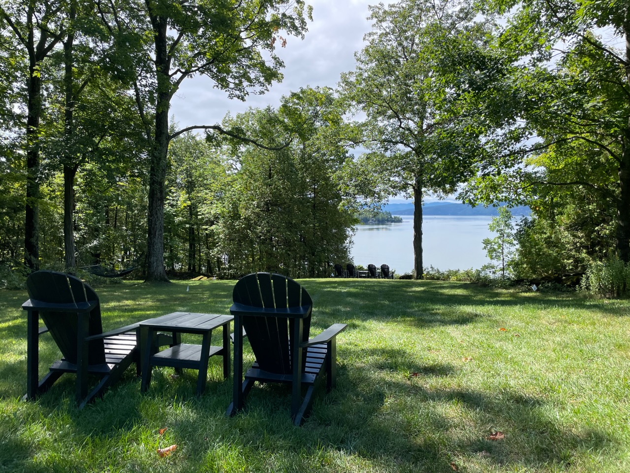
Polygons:
<instances>
[{"instance_id":1,"label":"tall leafy tree with slender trunk standing directly before the lake","mask_svg":"<svg viewBox=\"0 0 630 473\"><path fill-rule=\"evenodd\" d=\"M343 102L365 116L357 129L368 150L348 163L347 174L368 202L414 196L421 221L425 193L454 192L474 175L483 152L479 137L491 124L475 118L471 91L484 90L496 72L493 21L478 16L472 2L455 0L439 9L424 0L381 3L370 12L367 45L355 55L355 71L340 81ZM416 235L414 267L421 276Z\"/></svg>"}]
</instances>

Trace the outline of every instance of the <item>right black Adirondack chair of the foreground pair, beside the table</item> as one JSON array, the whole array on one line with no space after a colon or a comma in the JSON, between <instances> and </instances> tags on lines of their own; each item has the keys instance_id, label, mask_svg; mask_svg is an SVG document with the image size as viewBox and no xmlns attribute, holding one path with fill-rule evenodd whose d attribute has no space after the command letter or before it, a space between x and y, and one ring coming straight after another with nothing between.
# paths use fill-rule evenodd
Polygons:
<instances>
[{"instance_id":1,"label":"right black Adirondack chair of the foreground pair, beside the table","mask_svg":"<svg viewBox=\"0 0 630 473\"><path fill-rule=\"evenodd\" d=\"M346 324L333 324L309 339L312 300L306 289L280 274L248 274L234 286L234 393L226 414L233 416L256 381L292 386L291 416L299 426L309 414L312 395L326 375L335 387L336 336ZM243 380L243 328L256 361ZM302 398L302 387L306 394Z\"/></svg>"}]
</instances>

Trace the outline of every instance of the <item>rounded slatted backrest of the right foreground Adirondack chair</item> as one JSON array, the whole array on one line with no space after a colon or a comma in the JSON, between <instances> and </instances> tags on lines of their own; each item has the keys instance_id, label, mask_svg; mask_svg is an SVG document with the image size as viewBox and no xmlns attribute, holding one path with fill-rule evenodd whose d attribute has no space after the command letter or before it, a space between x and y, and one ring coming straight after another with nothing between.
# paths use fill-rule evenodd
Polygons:
<instances>
[{"instance_id":1,"label":"rounded slatted backrest of the right foreground Adirondack chair","mask_svg":"<svg viewBox=\"0 0 630 473\"><path fill-rule=\"evenodd\" d=\"M293 279L281 274L255 272L242 277L232 291L234 303L261 308L312 308L312 299L306 289ZM292 374L289 354L290 337L295 318L243 315L243 328L256 361L261 369L282 375ZM309 339L311 311L303 319L302 341ZM305 360L306 361L306 360Z\"/></svg>"}]
</instances>

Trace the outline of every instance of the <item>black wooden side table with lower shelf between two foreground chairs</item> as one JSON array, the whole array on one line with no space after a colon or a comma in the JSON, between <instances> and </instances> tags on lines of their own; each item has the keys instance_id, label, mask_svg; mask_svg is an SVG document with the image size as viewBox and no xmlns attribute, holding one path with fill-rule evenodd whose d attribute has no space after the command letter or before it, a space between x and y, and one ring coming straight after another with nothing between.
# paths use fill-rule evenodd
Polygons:
<instances>
[{"instance_id":1,"label":"black wooden side table with lower shelf between two foreground chairs","mask_svg":"<svg viewBox=\"0 0 630 473\"><path fill-rule=\"evenodd\" d=\"M139 324L139 341L142 347L142 384L140 391L145 392L151 384L152 366L172 366L176 370L192 368L199 370L197 378L197 395L205 389L210 356L223 357L223 377L230 375L230 342L229 331L232 315L215 313L173 312L161 317L149 318ZM223 327L222 346L211 346L212 330ZM172 332L173 346L157 352L154 346L156 332ZM201 345L181 343L181 333L200 334Z\"/></svg>"}]
</instances>

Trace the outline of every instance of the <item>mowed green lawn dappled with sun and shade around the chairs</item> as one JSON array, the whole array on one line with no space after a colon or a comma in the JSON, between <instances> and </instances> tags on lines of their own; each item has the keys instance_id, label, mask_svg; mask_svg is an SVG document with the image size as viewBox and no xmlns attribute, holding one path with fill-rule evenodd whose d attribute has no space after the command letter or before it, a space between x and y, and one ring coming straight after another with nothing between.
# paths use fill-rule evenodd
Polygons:
<instances>
[{"instance_id":1,"label":"mowed green lawn dappled with sun and shade around the chairs","mask_svg":"<svg viewBox=\"0 0 630 473\"><path fill-rule=\"evenodd\" d=\"M300 282L314 300L312 334L348 328L337 388L320 390L299 428L289 389L278 386L257 385L244 412L226 418L232 380L219 358L200 398L197 371L174 379L156 369L143 395L130 368L83 411L71 375L21 402L27 296L0 291L0 471L630 470L629 300L441 281ZM176 310L229 313L233 285L125 282L97 292L112 329ZM49 335L41 352L43 374L59 356ZM490 440L496 431L505 438Z\"/></svg>"}]
</instances>

